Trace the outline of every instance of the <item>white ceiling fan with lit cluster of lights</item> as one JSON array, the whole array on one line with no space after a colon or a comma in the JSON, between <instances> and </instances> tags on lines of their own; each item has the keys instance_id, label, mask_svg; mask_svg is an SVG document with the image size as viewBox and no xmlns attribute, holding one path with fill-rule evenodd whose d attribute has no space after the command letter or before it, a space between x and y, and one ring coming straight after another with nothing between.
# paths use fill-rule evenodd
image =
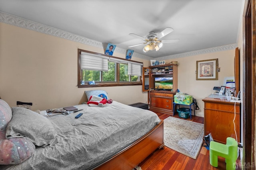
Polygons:
<instances>
[{"instance_id":1,"label":"white ceiling fan with lit cluster of lights","mask_svg":"<svg viewBox=\"0 0 256 170\"><path fill-rule=\"evenodd\" d=\"M163 31L161 31L158 34L156 34L154 31L151 31L151 32L149 32L149 34L146 37L142 37L140 35L130 33L129 35L132 35L133 37L136 37L136 38L140 38L145 42L136 44L136 45L131 45L131 46L129 46L129 48L136 47L136 46L142 45L142 44L147 44L143 48L144 52L148 52L148 51L154 50L154 49L156 51L158 51L162 47L162 45L163 45L162 43L176 43L180 40L180 39L161 39L162 37L166 36L167 34L171 33L172 31L173 31L173 29L171 27L166 27L166 29L164 29Z\"/></svg>"}]
</instances>

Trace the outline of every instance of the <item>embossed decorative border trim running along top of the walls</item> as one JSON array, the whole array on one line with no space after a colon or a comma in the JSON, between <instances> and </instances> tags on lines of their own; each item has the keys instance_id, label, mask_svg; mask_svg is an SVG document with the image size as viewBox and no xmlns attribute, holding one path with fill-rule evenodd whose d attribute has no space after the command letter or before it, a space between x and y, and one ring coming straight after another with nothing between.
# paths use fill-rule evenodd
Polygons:
<instances>
[{"instance_id":1,"label":"embossed decorative border trim running along top of the walls","mask_svg":"<svg viewBox=\"0 0 256 170\"><path fill-rule=\"evenodd\" d=\"M0 12L0 22L7 23L7 24L10 24L10 25L14 25L14 26L17 26L17 27L22 27L22 28L29 29L29 30L32 30L32 31L37 31L37 32L44 33L44 34L47 34L47 35L60 37L60 38L67 39L67 40L70 40L70 41L75 41L75 42L78 42L78 43L83 43L83 44L86 44L86 45L91 45L91 46L94 46L94 47L103 48L102 47L102 42L95 41L95 40L92 40L92 39L88 39L86 37L82 37L80 35L69 33L69 32L54 28L54 27L43 25L41 23L36 23L34 21L26 20L24 18L20 18L20 17L17 17L17 16L6 14L4 12ZM167 60L167 59L176 59L176 58L180 58L180 57L189 57L189 56L192 56L192 55L214 53L214 52L218 52L218 51L226 51L226 50L235 49L236 47L237 47L236 44L230 44L230 45L223 45L223 46L219 46L219 47L212 47L212 48L202 49L202 50L197 50L197 51L191 51L191 52L188 52L188 53L168 55L168 56L158 57L158 58L152 58L152 57L148 57L146 55L141 55L141 54L138 54L138 53L134 53L132 56L140 58L140 59L145 59L145 60L156 59L156 60L160 61L160 60ZM121 48L118 48L118 47L116 47L115 52L118 52L120 54L126 54L125 49L121 49Z\"/></svg>"}]
</instances>

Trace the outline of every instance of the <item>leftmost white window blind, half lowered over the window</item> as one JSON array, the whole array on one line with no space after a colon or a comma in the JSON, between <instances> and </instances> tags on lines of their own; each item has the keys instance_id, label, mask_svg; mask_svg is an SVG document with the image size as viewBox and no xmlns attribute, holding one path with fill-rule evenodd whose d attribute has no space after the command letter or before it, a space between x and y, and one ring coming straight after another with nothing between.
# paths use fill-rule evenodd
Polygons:
<instances>
[{"instance_id":1,"label":"leftmost white window blind, half lowered over the window","mask_svg":"<svg viewBox=\"0 0 256 170\"><path fill-rule=\"evenodd\" d=\"M81 69L108 71L108 57L81 54Z\"/></svg>"}]
</instances>

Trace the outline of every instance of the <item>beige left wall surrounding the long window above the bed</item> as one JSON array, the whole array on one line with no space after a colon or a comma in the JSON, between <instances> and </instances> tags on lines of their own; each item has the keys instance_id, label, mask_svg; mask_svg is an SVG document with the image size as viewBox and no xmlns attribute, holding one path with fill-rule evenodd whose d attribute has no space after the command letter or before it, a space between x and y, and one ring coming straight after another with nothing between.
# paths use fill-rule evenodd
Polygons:
<instances>
[{"instance_id":1,"label":"beige left wall surrounding the long window above the bed","mask_svg":"<svg viewBox=\"0 0 256 170\"><path fill-rule=\"evenodd\" d=\"M1 98L11 107L21 101L32 102L32 110L44 110L80 104L85 101L85 90L102 89L124 104L146 102L142 86L77 88L78 48L104 53L103 48L0 23ZM125 54L114 56L125 58Z\"/></svg>"}]
</instances>

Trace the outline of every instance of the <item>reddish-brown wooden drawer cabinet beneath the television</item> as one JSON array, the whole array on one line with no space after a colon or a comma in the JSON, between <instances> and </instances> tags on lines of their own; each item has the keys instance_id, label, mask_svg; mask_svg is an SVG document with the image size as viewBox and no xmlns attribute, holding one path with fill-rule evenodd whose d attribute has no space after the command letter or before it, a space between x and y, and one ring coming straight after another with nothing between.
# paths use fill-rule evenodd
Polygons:
<instances>
[{"instance_id":1,"label":"reddish-brown wooden drawer cabinet beneath the television","mask_svg":"<svg viewBox=\"0 0 256 170\"><path fill-rule=\"evenodd\" d=\"M149 94L151 111L174 115L173 96L176 92L151 90Z\"/></svg>"}]
</instances>

